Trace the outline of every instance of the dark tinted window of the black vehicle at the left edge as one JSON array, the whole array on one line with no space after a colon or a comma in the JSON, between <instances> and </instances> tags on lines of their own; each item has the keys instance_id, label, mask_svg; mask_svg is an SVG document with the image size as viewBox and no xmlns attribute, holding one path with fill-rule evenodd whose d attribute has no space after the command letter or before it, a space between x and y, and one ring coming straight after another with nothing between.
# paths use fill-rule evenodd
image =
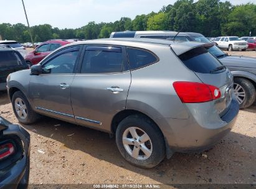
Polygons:
<instances>
[{"instance_id":1,"label":"dark tinted window of the black vehicle at the left edge","mask_svg":"<svg viewBox=\"0 0 256 189\"><path fill-rule=\"evenodd\" d=\"M0 52L0 68L2 67L17 67L25 65L24 59L17 52L4 51Z\"/></svg>"}]
</instances>

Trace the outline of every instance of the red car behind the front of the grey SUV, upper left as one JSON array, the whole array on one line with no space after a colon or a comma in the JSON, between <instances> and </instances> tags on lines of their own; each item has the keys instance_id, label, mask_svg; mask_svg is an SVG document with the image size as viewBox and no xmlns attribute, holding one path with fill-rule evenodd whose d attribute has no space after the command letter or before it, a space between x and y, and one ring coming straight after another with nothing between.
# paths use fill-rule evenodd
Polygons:
<instances>
[{"instance_id":1,"label":"red car behind the front of the grey SUV, upper left","mask_svg":"<svg viewBox=\"0 0 256 189\"><path fill-rule=\"evenodd\" d=\"M44 57L49 55L50 52L54 51L56 48L59 48L67 44L70 44L70 42L61 39L47 40L47 42L40 44L32 52L27 53L27 55L24 58L29 65L35 65L39 63Z\"/></svg>"}]
</instances>

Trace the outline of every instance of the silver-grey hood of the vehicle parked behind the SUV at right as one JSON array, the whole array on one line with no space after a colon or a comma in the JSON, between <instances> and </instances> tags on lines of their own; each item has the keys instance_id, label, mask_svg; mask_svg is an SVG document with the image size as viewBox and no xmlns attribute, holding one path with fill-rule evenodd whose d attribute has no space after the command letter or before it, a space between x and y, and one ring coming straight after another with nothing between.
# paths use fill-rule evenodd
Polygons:
<instances>
[{"instance_id":1,"label":"silver-grey hood of the vehicle parked behind the SUV at right","mask_svg":"<svg viewBox=\"0 0 256 189\"><path fill-rule=\"evenodd\" d=\"M256 68L256 58L244 56L226 56L219 58L227 67Z\"/></svg>"}]
</instances>

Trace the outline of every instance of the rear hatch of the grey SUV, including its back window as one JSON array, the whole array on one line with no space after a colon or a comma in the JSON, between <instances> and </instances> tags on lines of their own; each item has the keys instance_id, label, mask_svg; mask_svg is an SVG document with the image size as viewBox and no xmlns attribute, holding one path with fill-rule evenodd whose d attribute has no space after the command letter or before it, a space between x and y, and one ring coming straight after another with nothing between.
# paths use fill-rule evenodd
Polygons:
<instances>
[{"instance_id":1,"label":"rear hatch of the grey SUV, including its back window","mask_svg":"<svg viewBox=\"0 0 256 189\"><path fill-rule=\"evenodd\" d=\"M211 53L208 48L212 44L197 45L186 52L176 51L179 59L189 70L207 85L216 86L220 90L220 98L214 100L215 108L219 116L223 116L229 109L233 88L233 80L230 71ZM175 52L175 49L173 49Z\"/></svg>"}]
</instances>

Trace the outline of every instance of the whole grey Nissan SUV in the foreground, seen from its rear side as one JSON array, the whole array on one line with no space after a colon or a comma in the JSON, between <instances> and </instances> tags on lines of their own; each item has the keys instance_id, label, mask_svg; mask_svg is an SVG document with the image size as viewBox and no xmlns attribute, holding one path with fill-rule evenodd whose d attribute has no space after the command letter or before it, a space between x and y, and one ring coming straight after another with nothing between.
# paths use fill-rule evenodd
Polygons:
<instances>
[{"instance_id":1,"label":"whole grey Nissan SUV in the foreground, seen from its rear side","mask_svg":"<svg viewBox=\"0 0 256 189\"><path fill-rule=\"evenodd\" d=\"M235 123L232 75L207 51L211 45L77 42L11 73L7 91L21 123L42 114L115 134L128 162L151 168L174 152L212 147Z\"/></svg>"}]
</instances>

